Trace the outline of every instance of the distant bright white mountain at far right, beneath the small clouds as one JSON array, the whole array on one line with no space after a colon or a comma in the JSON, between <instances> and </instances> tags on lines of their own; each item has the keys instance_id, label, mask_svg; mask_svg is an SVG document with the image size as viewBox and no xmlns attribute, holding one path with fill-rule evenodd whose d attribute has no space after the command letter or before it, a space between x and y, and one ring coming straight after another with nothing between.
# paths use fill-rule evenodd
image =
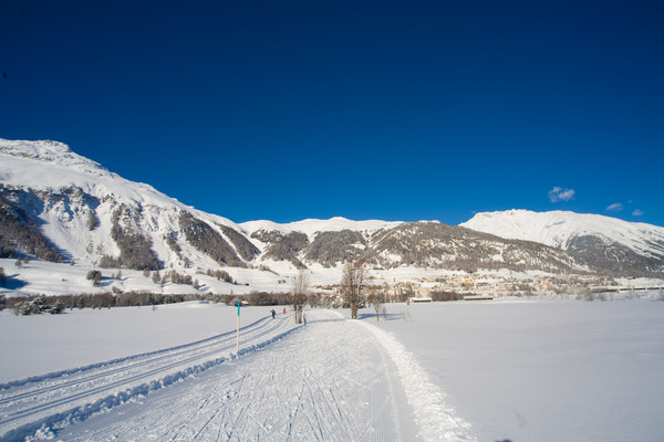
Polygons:
<instances>
[{"instance_id":1,"label":"distant bright white mountain at far right, beneath the small clouds","mask_svg":"<svg viewBox=\"0 0 664 442\"><path fill-rule=\"evenodd\" d=\"M664 228L600 214L508 210L477 213L460 225L573 252L613 272L664 272Z\"/></svg>"}]
</instances>

